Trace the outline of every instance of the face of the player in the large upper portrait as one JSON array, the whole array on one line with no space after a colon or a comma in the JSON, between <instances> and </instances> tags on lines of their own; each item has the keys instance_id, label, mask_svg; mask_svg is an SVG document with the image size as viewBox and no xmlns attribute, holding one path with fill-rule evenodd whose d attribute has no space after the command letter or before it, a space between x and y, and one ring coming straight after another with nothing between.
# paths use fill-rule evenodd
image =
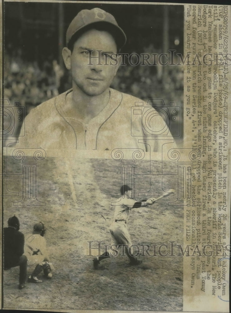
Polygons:
<instances>
[{"instance_id":1,"label":"face of the player in the large upper portrait","mask_svg":"<svg viewBox=\"0 0 231 313\"><path fill-rule=\"evenodd\" d=\"M115 58L116 43L106 31L91 29L78 38L70 56L73 88L75 85L90 96L107 90L119 67L112 62L111 54Z\"/></svg>"}]
</instances>

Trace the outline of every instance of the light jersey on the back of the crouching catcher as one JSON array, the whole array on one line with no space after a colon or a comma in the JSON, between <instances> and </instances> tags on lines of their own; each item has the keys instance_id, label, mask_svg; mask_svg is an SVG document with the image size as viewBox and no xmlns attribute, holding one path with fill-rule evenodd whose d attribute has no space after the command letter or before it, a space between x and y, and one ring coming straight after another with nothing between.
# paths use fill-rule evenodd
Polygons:
<instances>
[{"instance_id":1,"label":"light jersey on the back of the crouching catcher","mask_svg":"<svg viewBox=\"0 0 231 313\"><path fill-rule=\"evenodd\" d=\"M36 266L44 260L49 260L46 239L39 234L27 236L24 250L24 254L27 256L28 266Z\"/></svg>"}]
</instances>

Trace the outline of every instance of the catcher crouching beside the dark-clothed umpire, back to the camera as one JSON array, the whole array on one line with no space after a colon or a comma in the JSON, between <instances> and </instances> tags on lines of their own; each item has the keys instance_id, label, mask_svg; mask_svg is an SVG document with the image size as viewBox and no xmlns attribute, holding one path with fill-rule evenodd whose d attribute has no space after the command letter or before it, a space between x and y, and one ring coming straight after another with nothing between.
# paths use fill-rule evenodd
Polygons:
<instances>
[{"instance_id":1,"label":"catcher crouching beside the dark-clothed umpire, back to the camera","mask_svg":"<svg viewBox=\"0 0 231 313\"><path fill-rule=\"evenodd\" d=\"M25 255L27 256L27 265L29 268L34 268L28 278L28 282L31 283L42 283L42 280L37 278L42 270L46 278L52 278L47 243L44 237L46 232L47 229L44 224L39 222L34 225L32 234L26 238Z\"/></svg>"}]
</instances>

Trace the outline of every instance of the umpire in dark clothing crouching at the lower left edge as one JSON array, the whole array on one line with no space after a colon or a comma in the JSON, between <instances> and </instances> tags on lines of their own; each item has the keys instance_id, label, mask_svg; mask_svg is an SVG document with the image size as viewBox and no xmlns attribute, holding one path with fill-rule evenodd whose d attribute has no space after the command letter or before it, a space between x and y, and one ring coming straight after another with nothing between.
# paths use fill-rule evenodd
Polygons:
<instances>
[{"instance_id":1,"label":"umpire in dark clothing crouching at the lower left edge","mask_svg":"<svg viewBox=\"0 0 231 313\"><path fill-rule=\"evenodd\" d=\"M27 276L27 257L24 253L24 235L19 232L20 223L14 215L8 219L3 232L4 269L19 266L19 289L24 288Z\"/></svg>"}]
</instances>

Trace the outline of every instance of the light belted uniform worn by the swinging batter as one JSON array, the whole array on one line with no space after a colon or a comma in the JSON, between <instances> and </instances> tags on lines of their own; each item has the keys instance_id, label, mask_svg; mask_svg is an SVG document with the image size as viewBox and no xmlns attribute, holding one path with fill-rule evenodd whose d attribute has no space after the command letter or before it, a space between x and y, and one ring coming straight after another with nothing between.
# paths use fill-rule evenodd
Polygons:
<instances>
[{"instance_id":1,"label":"light belted uniform worn by the swinging batter","mask_svg":"<svg viewBox=\"0 0 231 313\"><path fill-rule=\"evenodd\" d=\"M117 248L119 248L120 245L127 245L129 249L132 245L130 234L127 230L127 220L131 213L131 208L133 208L135 203L135 200L128 199L125 196L125 198L121 199L118 205L115 206L114 221L110 226L110 233L112 238L111 244L117 246ZM110 253L111 251L108 252ZM133 254L132 247L130 253Z\"/></svg>"}]
</instances>

